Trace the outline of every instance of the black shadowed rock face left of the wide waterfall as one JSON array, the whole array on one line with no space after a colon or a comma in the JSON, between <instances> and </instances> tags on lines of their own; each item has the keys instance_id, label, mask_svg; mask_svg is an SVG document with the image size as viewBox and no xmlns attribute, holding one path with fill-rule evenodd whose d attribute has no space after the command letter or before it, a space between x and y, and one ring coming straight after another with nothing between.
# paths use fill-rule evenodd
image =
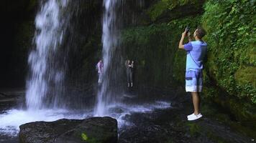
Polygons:
<instances>
[{"instance_id":1,"label":"black shadowed rock face left of the wide waterfall","mask_svg":"<svg viewBox=\"0 0 256 143\"><path fill-rule=\"evenodd\" d=\"M37 0L1 1L1 87L23 87L25 83L37 6Z\"/></svg>"}]
</instances>

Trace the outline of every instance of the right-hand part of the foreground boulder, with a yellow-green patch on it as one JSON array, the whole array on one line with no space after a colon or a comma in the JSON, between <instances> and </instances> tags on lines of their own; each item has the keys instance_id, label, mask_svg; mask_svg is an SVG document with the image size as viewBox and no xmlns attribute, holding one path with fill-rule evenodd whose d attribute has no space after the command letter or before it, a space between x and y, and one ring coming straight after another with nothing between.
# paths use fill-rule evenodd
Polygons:
<instances>
[{"instance_id":1,"label":"right-hand part of the foreground boulder, with a yellow-green patch on it","mask_svg":"<svg viewBox=\"0 0 256 143\"><path fill-rule=\"evenodd\" d=\"M111 117L84 120L75 129L58 137L57 142L114 143L117 142L117 121Z\"/></svg>"}]
</instances>

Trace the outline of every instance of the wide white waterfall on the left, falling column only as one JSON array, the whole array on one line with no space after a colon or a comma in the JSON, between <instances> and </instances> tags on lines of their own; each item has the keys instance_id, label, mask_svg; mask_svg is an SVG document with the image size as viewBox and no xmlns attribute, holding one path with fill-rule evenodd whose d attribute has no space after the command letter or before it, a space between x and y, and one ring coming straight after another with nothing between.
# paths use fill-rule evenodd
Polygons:
<instances>
[{"instance_id":1,"label":"wide white waterfall on the left, falling column only","mask_svg":"<svg viewBox=\"0 0 256 143\"><path fill-rule=\"evenodd\" d=\"M29 54L26 104L28 109L60 107L65 77L65 50L62 47L68 16L68 0L41 2L35 19L35 49Z\"/></svg>"}]
</instances>

